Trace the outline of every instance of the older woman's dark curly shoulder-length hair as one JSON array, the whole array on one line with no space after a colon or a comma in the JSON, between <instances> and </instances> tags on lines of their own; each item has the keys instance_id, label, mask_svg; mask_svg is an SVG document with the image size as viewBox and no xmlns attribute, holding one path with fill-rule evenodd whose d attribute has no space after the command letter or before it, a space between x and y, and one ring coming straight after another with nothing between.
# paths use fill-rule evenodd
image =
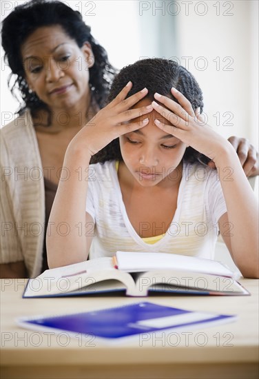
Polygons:
<instances>
[{"instance_id":1,"label":"older woman's dark curly shoulder-length hair","mask_svg":"<svg viewBox=\"0 0 259 379\"><path fill-rule=\"evenodd\" d=\"M61 1L31 0L17 6L2 22L2 46L5 59L12 70L8 85L12 94L19 100L19 114L28 108L32 114L39 109L48 109L37 94L31 92L25 80L21 45L34 30L44 26L60 25L79 48L89 42L94 53L94 65L89 70L89 85L92 99L99 107L107 101L110 85L117 70L110 64L105 49L92 37L91 29L83 21L80 12L72 10Z\"/></svg>"}]
</instances>

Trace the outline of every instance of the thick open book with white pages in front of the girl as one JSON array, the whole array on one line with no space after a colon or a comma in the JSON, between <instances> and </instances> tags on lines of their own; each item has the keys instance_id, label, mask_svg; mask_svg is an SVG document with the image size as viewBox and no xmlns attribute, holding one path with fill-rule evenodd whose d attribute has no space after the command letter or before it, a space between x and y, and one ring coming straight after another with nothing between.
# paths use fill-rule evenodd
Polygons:
<instances>
[{"instance_id":1,"label":"thick open book with white pages in front of the girl","mask_svg":"<svg viewBox=\"0 0 259 379\"><path fill-rule=\"evenodd\" d=\"M116 252L104 257L48 269L28 280L23 298L75 296L125 291L172 294L248 295L220 262L165 253Z\"/></svg>"}]
</instances>

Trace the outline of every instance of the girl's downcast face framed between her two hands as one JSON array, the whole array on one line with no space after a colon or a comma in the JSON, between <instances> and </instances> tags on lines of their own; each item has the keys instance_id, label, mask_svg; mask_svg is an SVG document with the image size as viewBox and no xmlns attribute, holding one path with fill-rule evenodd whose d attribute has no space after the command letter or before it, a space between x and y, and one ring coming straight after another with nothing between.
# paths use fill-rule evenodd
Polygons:
<instances>
[{"instance_id":1,"label":"girl's downcast face framed between her two hands","mask_svg":"<svg viewBox=\"0 0 259 379\"><path fill-rule=\"evenodd\" d=\"M134 107L144 107L150 102L149 99L143 99ZM168 124L158 112L153 110L144 117L138 117L136 121L146 117L149 118L147 126L120 137L123 161L132 176L143 187L153 187L163 183L174 185L178 178L176 168L183 158L186 145L156 126L155 119Z\"/></svg>"}]
</instances>

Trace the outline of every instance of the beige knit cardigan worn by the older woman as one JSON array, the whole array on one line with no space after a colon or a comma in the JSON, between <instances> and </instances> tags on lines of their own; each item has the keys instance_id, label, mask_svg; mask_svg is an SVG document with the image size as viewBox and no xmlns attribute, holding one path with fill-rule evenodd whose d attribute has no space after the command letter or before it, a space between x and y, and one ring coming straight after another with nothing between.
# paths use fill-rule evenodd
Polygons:
<instances>
[{"instance_id":1,"label":"beige knit cardigan worn by the older woman","mask_svg":"<svg viewBox=\"0 0 259 379\"><path fill-rule=\"evenodd\" d=\"M0 263L23 260L30 278L42 265L45 192L37 137L30 112L1 133Z\"/></svg>"}]
</instances>

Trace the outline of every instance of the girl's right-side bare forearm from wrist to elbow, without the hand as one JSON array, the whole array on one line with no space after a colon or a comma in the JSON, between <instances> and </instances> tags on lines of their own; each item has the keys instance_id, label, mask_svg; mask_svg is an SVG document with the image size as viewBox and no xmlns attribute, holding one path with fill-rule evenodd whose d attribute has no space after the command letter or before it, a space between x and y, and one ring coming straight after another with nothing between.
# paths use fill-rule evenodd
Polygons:
<instances>
[{"instance_id":1,"label":"girl's right-side bare forearm from wrist to elbow, without the hand","mask_svg":"<svg viewBox=\"0 0 259 379\"><path fill-rule=\"evenodd\" d=\"M231 225L231 252L244 276L259 277L258 203L234 148L227 143L215 159Z\"/></svg>"}]
</instances>

